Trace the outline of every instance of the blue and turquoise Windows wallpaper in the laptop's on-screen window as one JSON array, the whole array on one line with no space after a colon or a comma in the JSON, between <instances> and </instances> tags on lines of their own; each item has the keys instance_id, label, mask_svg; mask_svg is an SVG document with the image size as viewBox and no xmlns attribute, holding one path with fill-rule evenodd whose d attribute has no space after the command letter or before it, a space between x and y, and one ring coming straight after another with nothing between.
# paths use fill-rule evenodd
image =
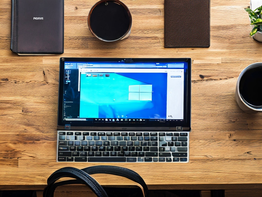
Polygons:
<instances>
[{"instance_id":1,"label":"blue and turquoise Windows wallpaper in the laptop's on-screen window","mask_svg":"<svg viewBox=\"0 0 262 197\"><path fill-rule=\"evenodd\" d=\"M80 118L166 119L167 73L86 72L80 77ZM148 100L130 100L129 87L137 85L152 87Z\"/></svg>"}]
</instances>

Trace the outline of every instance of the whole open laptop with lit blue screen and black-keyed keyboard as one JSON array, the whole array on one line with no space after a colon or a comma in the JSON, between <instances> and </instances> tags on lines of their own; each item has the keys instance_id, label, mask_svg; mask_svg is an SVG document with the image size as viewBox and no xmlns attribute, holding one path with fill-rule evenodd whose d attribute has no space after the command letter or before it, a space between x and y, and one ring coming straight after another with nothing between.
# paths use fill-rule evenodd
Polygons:
<instances>
[{"instance_id":1,"label":"whole open laptop with lit blue screen and black-keyed keyboard","mask_svg":"<svg viewBox=\"0 0 262 197\"><path fill-rule=\"evenodd\" d=\"M189 162L190 58L60 58L57 162Z\"/></svg>"}]
</instances>

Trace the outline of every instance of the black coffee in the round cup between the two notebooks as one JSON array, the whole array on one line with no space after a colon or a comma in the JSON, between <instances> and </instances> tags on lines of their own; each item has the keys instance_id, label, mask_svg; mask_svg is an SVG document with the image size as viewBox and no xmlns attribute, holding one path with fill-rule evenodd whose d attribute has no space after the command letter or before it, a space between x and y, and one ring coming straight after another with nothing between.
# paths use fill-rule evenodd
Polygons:
<instances>
[{"instance_id":1,"label":"black coffee in the round cup between the two notebooks","mask_svg":"<svg viewBox=\"0 0 262 197\"><path fill-rule=\"evenodd\" d=\"M117 40L123 37L129 31L131 23L125 8L112 1L98 4L92 10L89 20L92 31L104 40Z\"/></svg>"}]
</instances>

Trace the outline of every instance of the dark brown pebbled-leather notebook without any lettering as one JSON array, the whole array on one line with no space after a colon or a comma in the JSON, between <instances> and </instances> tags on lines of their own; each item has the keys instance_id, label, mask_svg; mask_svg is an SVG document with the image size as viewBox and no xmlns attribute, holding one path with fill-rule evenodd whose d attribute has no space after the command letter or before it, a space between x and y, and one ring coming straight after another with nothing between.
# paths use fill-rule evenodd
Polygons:
<instances>
[{"instance_id":1,"label":"dark brown pebbled-leather notebook without any lettering","mask_svg":"<svg viewBox=\"0 0 262 197\"><path fill-rule=\"evenodd\" d=\"M164 0L165 48L210 46L210 0Z\"/></svg>"}]
</instances>

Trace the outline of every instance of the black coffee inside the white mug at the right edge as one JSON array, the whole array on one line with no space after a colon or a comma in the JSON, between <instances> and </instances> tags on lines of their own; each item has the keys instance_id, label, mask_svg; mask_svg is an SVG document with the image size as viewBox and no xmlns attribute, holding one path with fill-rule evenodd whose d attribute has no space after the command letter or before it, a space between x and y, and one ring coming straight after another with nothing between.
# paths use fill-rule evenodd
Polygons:
<instances>
[{"instance_id":1,"label":"black coffee inside the white mug at the right edge","mask_svg":"<svg viewBox=\"0 0 262 197\"><path fill-rule=\"evenodd\" d=\"M239 92L248 104L262 106L262 67L249 69L243 74L239 82Z\"/></svg>"}]
</instances>

